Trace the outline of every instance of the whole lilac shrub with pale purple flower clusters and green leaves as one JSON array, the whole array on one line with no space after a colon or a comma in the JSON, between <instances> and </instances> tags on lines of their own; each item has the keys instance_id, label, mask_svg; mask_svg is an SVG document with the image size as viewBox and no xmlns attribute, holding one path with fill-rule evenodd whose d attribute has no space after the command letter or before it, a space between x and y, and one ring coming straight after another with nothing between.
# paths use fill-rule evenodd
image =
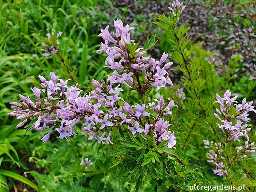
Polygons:
<instances>
[{"instance_id":1,"label":"whole lilac shrub with pale purple flower clusters and green leaves","mask_svg":"<svg viewBox=\"0 0 256 192\"><path fill-rule=\"evenodd\" d=\"M196 103L200 108L195 109L200 109L200 113L207 116L208 113L204 109L204 102L202 102L204 98L199 95L200 92L198 91L201 86L194 86L193 82L196 79L198 85L203 85L205 81L202 78L193 77L194 72L200 74L200 71L190 70L193 65L190 66L189 55L194 51L193 46L190 46L189 53L182 50L189 44L189 41L184 41L185 38L183 38L184 36L187 37L188 29L185 29L183 25L176 30L179 16L185 7L183 3L175 0L172 7L169 7L171 10L169 18L164 15L159 16L158 20L161 23L156 22L156 24L165 30L170 30L170 34L176 40L177 43L173 41L173 49L175 54L181 55L176 56L174 54L173 59L181 60L178 62L180 66L177 68L188 77L188 83L184 84L184 88L190 94L194 92L196 97L195 100L192 100L193 102L190 102L191 100L187 100L187 96L191 97L190 94L186 94L185 97L185 93L180 88L175 95L180 100L184 100L182 102L184 106L188 102ZM119 131L123 140L119 140L118 144L121 144L123 148L120 145L115 146L116 159L112 167L119 165L120 180L123 177L128 177L128 174L132 175L132 179L137 180L135 187L137 191L143 180L150 177L160 178L162 168L165 168L166 176L161 178L163 185L160 186L159 191L164 191L169 187L181 191L184 189L184 183L190 181L191 184L198 184L198 177L199 175L202 176L202 173L196 171L199 169L196 166L190 170L191 164L186 157L189 146L182 148L182 150L176 150L177 135L170 128L172 109L173 107L178 108L178 106L174 104L174 100L164 98L159 93L161 88L167 89L168 86L173 85L168 73L173 62L168 62L168 54L165 52L160 60L150 58L147 55L147 50L156 43L155 35L147 39L144 46L141 47L131 37L130 31L134 27L124 26L121 20L114 20L113 28L115 31L109 32L109 28L108 25L101 30L99 36L104 42L101 42L101 48L97 52L106 52L107 58L104 67L113 70L112 74L108 74L108 77L105 80L100 80L100 82L93 79L92 86L94 88L88 93L83 92L78 84L69 85L70 81L74 79L72 76L72 80L63 80L54 72L50 73L50 79L39 76L40 87L31 88L34 96L25 97L20 94L22 102L10 102L14 111L9 115L23 120L16 126L17 128L24 126L27 130L49 130L48 134L41 139L42 142L47 142L54 135L57 135L60 140L70 141L70 137L77 134L77 127L81 127L82 135L86 135L89 141L95 140L98 144L112 145L115 143L112 137L113 132ZM58 48L58 38L61 35L61 32L55 34L54 30L52 34L48 33L46 43L42 44L44 49L41 51L46 57L50 54L57 54L66 66L65 59L60 55ZM184 46L183 43L186 45ZM197 82L199 79L203 82ZM191 91L186 86L189 86ZM123 92L126 90L132 90L133 93L137 92L135 96L127 96L132 102L123 96L125 95ZM157 92L155 98L149 96L152 90ZM230 167L232 164L245 159L248 153L255 152L254 143L248 144L248 132L251 128L248 128L246 123L249 121L248 112L256 111L252 102L246 103L245 99L241 104L236 104L237 97L231 98L229 90L226 91L223 98L218 94L216 96L216 102L220 104L220 109L216 109L217 113L214 115L220 121L218 126L223 135L219 137L212 127L214 134L220 141L204 140L204 144L205 148L209 149L208 162L215 166L214 174L226 176L231 182ZM185 111L194 108L194 106L191 108L184 106L182 108ZM198 122L200 121L198 120ZM199 126L196 122L191 124L193 126L188 136L192 133L194 126ZM204 126L202 125L202 127ZM184 143L188 141L188 136ZM244 144L234 151L234 156L230 156L227 153L227 151L232 151L227 150L231 148L230 144L234 144L236 141L240 144L243 140L246 140ZM167 165L166 162L171 160L175 161ZM160 162L162 163L160 164ZM85 166L85 170L88 170L92 164L93 162L88 158L80 163L81 166Z\"/></svg>"}]
</instances>

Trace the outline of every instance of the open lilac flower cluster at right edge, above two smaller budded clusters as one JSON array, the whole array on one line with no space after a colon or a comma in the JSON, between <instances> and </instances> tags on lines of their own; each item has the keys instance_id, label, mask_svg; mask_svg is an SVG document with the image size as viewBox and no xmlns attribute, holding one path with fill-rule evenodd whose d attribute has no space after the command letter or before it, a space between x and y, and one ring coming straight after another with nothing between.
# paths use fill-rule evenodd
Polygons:
<instances>
[{"instance_id":1,"label":"open lilac flower cluster at right edge, above two smaller budded clusters","mask_svg":"<svg viewBox=\"0 0 256 192\"><path fill-rule=\"evenodd\" d=\"M254 105L252 105L253 102L246 103L244 98L241 104L233 104L237 103L237 96L230 97L231 92L229 90L226 91L223 98L216 94L216 103L220 104L220 110L216 108L217 113L214 115L222 122L218 126L229 141L238 140L240 142L240 137L246 137L249 140L247 132L251 128L247 128L248 124L244 123L250 120L248 112L256 112Z\"/></svg>"}]
</instances>

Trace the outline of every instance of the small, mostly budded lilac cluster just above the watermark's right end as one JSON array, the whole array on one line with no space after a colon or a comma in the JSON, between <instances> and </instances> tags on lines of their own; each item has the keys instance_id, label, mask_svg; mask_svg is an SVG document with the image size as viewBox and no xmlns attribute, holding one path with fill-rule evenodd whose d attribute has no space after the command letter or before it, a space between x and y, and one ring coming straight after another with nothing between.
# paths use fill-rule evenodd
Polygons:
<instances>
[{"instance_id":1,"label":"small, mostly budded lilac cluster just above the watermark's right end","mask_svg":"<svg viewBox=\"0 0 256 192\"><path fill-rule=\"evenodd\" d=\"M209 142L209 140L204 140L204 145L205 148L209 149L209 152L206 156L210 160L207 160L207 162L213 163L215 166L215 170L213 171L214 174L218 176L227 175L228 173L223 163L223 160L225 160L225 158L222 156L222 144L214 143L213 141Z\"/></svg>"}]
</instances>

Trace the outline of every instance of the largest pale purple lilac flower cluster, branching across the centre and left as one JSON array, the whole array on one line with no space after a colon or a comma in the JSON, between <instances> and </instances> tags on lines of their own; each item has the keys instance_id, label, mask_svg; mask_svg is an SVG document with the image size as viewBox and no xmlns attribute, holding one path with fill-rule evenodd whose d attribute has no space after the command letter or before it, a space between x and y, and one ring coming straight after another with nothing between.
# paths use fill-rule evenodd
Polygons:
<instances>
[{"instance_id":1,"label":"largest pale purple lilac flower cluster, branching across the centre and left","mask_svg":"<svg viewBox=\"0 0 256 192\"><path fill-rule=\"evenodd\" d=\"M102 30L100 36L105 40L102 50L106 51L106 67L114 69L112 76L108 76L107 82L92 80L95 87L89 94L82 94L78 85L68 86L69 80L62 80L50 73L50 80L39 76L41 88L32 88L34 98L20 95L22 103L10 102L14 112L9 113L18 119L25 119L17 127L30 123L30 129L49 129L42 141L46 142L56 130L57 138L66 139L76 135L74 126L78 123L83 125L83 134L88 134L88 140L96 139L98 143L113 144L110 140L115 127L125 124L132 134L148 134L152 129L156 138L156 144L168 140L166 146L173 148L176 144L174 132L170 132L170 123L164 121L163 116L172 115L170 108L174 105L173 100L164 107L164 98L155 100L150 104L132 105L124 101L120 96L123 91L121 85L136 90L140 95L149 91L152 86L165 87L172 84L169 74L166 71L172 62L163 64L168 54L163 54L160 61L144 56L146 52L142 48L136 50L135 56L129 52L128 44L134 45L134 40L130 40L132 27L124 26L121 20L115 20L115 38L108 32L108 27ZM54 33L53 33L54 34ZM52 34L52 35L53 35ZM48 38L51 38L48 34ZM114 44L109 47L108 42ZM115 58L120 58L115 62ZM146 63L146 61L148 61ZM149 66L149 70L148 70ZM122 70L118 74L117 70ZM140 82L140 76L145 77L145 82ZM152 117L150 122L150 111L157 115ZM145 124L147 122L147 124Z\"/></svg>"}]
</instances>

